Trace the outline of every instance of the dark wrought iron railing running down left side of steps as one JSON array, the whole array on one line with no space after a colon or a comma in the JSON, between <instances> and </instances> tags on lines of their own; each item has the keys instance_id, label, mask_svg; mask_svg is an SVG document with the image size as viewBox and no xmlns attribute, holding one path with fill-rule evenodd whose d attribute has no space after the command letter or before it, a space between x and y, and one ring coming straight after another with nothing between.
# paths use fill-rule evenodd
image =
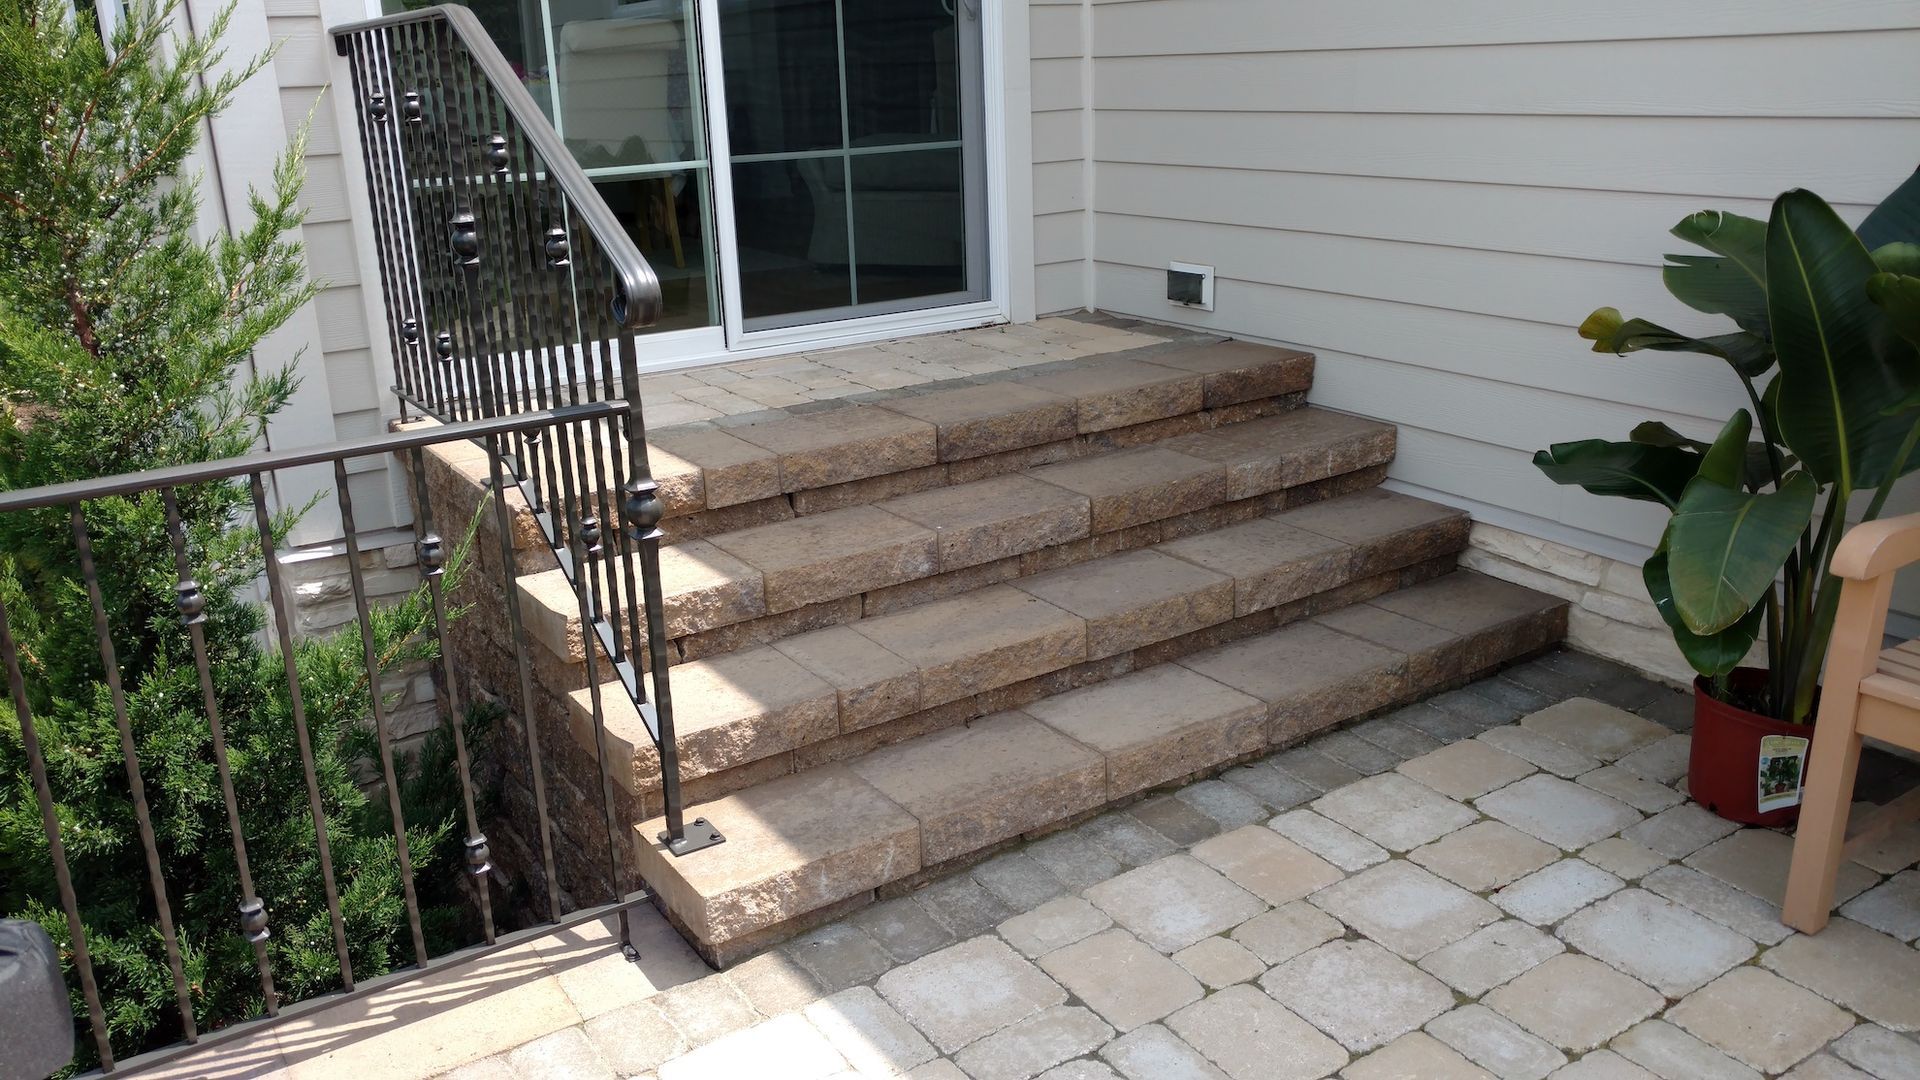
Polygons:
<instances>
[{"instance_id":1,"label":"dark wrought iron railing running down left side of steps","mask_svg":"<svg viewBox=\"0 0 1920 1080\"><path fill-rule=\"evenodd\" d=\"M332 33L353 75L403 407L461 421L628 405L509 436L503 459L659 751L662 844L676 855L718 844L705 819L685 826L674 744L660 502L636 377L636 331L659 313L659 279L472 12L440 6ZM586 676L601 734L593 648Z\"/></svg>"}]
</instances>

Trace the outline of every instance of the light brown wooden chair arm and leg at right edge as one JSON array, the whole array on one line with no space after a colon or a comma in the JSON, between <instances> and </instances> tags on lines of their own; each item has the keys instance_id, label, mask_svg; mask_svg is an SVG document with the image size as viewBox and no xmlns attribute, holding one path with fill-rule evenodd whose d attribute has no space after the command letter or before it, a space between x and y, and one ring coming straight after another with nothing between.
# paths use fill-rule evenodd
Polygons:
<instances>
[{"instance_id":1,"label":"light brown wooden chair arm and leg at right edge","mask_svg":"<svg viewBox=\"0 0 1920 1080\"><path fill-rule=\"evenodd\" d=\"M1855 527L1834 552L1845 584L1826 653L1820 711L1807 761L1799 832L1782 920L1807 934L1826 926L1841 859L1920 817L1920 790L1851 822L1860 738L1920 749L1920 642L1882 650L1893 575L1920 561L1920 513Z\"/></svg>"}]
</instances>

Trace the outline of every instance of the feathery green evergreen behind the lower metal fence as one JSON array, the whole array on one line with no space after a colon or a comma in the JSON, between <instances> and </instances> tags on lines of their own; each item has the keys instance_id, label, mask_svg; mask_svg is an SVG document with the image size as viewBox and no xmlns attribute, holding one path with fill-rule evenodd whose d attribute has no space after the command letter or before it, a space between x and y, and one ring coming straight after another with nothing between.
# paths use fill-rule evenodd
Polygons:
<instances>
[{"instance_id":1,"label":"feathery green evergreen behind the lower metal fence","mask_svg":"<svg viewBox=\"0 0 1920 1080\"><path fill-rule=\"evenodd\" d=\"M294 392L292 365L255 350L301 304L296 244L301 140L250 219L194 236L200 194L182 175L205 119L263 63L221 75L227 15L198 40L142 0L104 46L90 4L0 6L0 490L246 454ZM250 369L257 359L259 369ZM284 356L271 357L286 361ZM207 650L234 792L273 936L276 990L300 999L340 980L315 822L282 657L261 646L248 600L261 571L242 484L179 492L184 542L207 598ZM240 936L238 872L200 678L173 603L175 563L157 494L92 500L86 530L127 688L152 824L179 926L196 1024L259 1013ZM275 521L284 532L292 515ZM455 565L465 559L457 557ZM451 571L457 573L457 571ZM119 728L102 682L92 609L63 509L0 517L6 603L117 1053L179 1038ZM372 621L386 690L434 657L424 592ZM296 655L321 803L357 978L413 961L384 796L365 778L371 709L357 628ZM467 721L470 740L490 717ZM459 934L459 809L451 738L436 730L396 763L426 926ZM21 723L0 705L0 915L67 940ZM71 976L75 1015L84 1019ZM84 1020L83 1020L84 1024ZM84 1067L92 1040L77 1042Z\"/></svg>"}]
</instances>

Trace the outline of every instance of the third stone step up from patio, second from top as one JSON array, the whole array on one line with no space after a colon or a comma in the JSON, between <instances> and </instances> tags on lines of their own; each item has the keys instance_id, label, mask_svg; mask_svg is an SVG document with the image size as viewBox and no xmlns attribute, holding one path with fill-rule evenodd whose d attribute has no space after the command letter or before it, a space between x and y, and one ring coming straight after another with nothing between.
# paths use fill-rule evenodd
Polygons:
<instances>
[{"instance_id":1,"label":"third stone step up from patio, second from top","mask_svg":"<svg viewBox=\"0 0 1920 1080\"><path fill-rule=\"evenodd\" d=\"M1261 438L1281 448L1248 450ZM674 661L1359 490L1392 454L1390 427L1304 411L849 507L816 527L789 521L680 546L666 559ZM559 571L522 577L518 588L530 636L584 661L578 601Z\"/></svg>"}]
</instances>

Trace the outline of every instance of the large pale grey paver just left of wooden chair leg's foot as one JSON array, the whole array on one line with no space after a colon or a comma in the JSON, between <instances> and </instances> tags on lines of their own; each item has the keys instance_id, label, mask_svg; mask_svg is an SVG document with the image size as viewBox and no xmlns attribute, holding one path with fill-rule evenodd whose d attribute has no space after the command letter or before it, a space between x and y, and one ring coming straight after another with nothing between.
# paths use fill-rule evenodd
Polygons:
<instances>
[{"instance_id":1,"label":"large pale grey paver just left of wooden chair leg's foot","mask_svg":"<svg viewBox=\"0 0 1920 1080\"><path fill-rule=\"evenodd\" d=\"M1638 888L1567 919L1559 936L1667 997L1699 990L1753 955L1749 938Z\"/></svg>"}]
</instances>

